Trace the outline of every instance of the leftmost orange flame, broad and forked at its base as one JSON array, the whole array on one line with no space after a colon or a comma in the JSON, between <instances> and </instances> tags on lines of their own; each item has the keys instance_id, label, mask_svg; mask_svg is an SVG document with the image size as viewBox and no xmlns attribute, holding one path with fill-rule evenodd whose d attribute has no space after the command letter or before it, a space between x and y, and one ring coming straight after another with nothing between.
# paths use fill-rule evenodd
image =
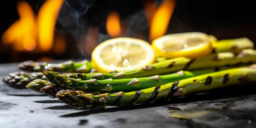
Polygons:
<instances>
[{"instance_id":1,"label":"leftmost orange flame, broad and forked at its base","mask_svg":"<svg viewBox=\"0 0 256 128\"><path fill-rule=\"evenodd\" d=\"M21 1L17 6L20 19L13 23L3 34L5 44L15 43L14 49L22 51L33 50L36 47L36 16L30 5Z\"/></svg>"}]
</instances>

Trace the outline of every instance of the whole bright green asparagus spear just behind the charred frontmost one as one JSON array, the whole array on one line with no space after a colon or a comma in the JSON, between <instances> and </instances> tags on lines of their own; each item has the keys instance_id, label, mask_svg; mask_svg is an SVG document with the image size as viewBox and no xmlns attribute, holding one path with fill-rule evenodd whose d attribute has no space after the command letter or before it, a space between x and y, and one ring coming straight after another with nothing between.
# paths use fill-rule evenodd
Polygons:
<instances>
[{"instance_id":1,"label":"whole bright green asparagus spear just behind the charred frontmost one","mask_svg":"<svg viewBox=\"0 0 256 128\"><path fill-rule=\"evenodd\" d=\"M243 65L245 67L245 65ZM249 66L249 65L246 65ZM57 75L56 72L45 71L46 78L64 89L76 88L80 90L98 90L105 92L112 91L136 91L146 89L158 85L167 84L181 79L212 73L219 70L225 70L235 67L221 67L221 68L208 68L201 70L183 71L180 70L173 74L168 75L155 75L150 77L140 78L126 78L126 79L105 79L105 80L81 80L74 78L67 78L67 76Z\"/></svg>"}]
</instances>

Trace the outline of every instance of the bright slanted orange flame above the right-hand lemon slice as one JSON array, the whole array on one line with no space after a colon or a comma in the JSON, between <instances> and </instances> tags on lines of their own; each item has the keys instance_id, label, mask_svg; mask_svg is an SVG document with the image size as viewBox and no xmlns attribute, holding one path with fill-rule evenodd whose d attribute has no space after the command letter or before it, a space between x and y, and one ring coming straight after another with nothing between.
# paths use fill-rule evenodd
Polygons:
<instances>
[{"instance_id":1,"label":"bright slanted orange flame above the right-hand lemon slice","mask_svg":"<svg viewBox=\"0 0 256 128\"><path fill-rule=\"evenodd\" d=\"M166 33L172 13L175 8L175 0L164 0L155 12L150 24L150 41L163 36Z\"/></svg>"}]
</instances>

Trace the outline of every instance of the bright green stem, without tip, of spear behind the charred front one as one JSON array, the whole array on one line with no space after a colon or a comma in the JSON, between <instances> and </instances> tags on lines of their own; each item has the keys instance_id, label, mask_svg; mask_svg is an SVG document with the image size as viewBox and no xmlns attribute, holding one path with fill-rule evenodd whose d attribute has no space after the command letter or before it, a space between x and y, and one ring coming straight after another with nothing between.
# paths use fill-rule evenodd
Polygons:
<instances>
[{"instance_id":1,"label":"bright green stem, without tip, of spear behind the charred front one","mask_svg":"<svg viewBox=\"0 0 256 128\"><path fill-rule=\"evenodd\" d=\"M91 79L91 80L82 81L80 79L67 78L67 81L63 83L65 83L66 85L71 83L70 87L74 87L80 90L98 90L98 91L104 91L104 92L135 91L135 90L141 90L149 87L155 87L158 85L167 84L173 81L178 81L178 80L189 78L192 76L194 76L193 73L189 71L181 70L177 73L168 74L168 75L162 75L162 76L156 75L151 77L127 78L127 79L106 79L106 80Z\"/></svg>"}]
</instances>

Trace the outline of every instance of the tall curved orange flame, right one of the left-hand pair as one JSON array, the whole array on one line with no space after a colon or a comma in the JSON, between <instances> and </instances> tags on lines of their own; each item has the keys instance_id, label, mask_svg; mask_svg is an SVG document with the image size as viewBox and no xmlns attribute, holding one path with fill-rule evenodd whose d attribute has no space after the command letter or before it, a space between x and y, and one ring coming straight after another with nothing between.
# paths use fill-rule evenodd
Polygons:
<instances>
[{"instance_id":1,"label":"tall curved orange flame, right one of the left-hand pair","mask_svg":"<svg viewBox=\"0 0 256 128\"><path fill-rule=\"evenodd\" d=\"M41 6L38 16L38 38L43 51L52 48L55 23L64 0L47 0Z\"/></svg>"}]
</instances>

